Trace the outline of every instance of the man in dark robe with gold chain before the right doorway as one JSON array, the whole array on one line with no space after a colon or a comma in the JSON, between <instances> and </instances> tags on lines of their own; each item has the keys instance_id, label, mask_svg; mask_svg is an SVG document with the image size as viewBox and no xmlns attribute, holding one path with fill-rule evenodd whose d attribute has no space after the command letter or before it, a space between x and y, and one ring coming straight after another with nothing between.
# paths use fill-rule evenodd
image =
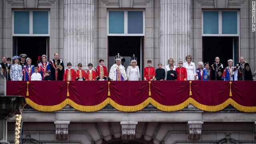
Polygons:
<instances>
[{"instance_id":1,"label":"man in dark robe with gold chain before the right doorway","mask_svg":"<svg viewBox=\"0 0 256 144\"><path fill-rule=\"evenodd\" d=\"M212 64L210 67L210 80L223 80L221 78L223 70L224 66L220 63L220 58L217 56L214 64Z\"/></svg>"}]
</instances>

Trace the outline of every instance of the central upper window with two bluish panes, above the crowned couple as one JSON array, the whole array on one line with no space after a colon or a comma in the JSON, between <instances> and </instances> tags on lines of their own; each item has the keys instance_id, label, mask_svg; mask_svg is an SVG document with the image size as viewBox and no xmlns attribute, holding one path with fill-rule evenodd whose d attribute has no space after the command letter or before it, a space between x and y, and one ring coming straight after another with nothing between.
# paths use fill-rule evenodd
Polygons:
<instances>
[{"instance_id":1,"label":"central upper window with two bluish panes, above the crowned couple","mask_svg":"<svg viewBox=\"0 0 256 144\"><path fill-rule=\"evenodd\" d=\"M144 36L143 10L109 10L108 36Z\"/></svg>"}]
</instances>

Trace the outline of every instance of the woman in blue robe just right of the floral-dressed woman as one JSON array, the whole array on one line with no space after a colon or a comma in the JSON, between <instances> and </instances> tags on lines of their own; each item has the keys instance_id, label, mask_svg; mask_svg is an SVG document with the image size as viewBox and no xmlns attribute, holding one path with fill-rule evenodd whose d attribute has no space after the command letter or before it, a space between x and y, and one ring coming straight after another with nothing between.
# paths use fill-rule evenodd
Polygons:
<instances>
[{"instance_id":1,"label":"woman in blue robe just right of the floral-dressed woman","mask_svg":"<svg viewBox=\"0 0 256 144\"><path fill-rule=\"evenodd\" d=\"M34 68L35 66L34 65L31 65L31 58L27 58L26 59L26 65L23 67L23 80L31 80L31 76L32 74L35 72Z\"/></svg>"}]
</instances>

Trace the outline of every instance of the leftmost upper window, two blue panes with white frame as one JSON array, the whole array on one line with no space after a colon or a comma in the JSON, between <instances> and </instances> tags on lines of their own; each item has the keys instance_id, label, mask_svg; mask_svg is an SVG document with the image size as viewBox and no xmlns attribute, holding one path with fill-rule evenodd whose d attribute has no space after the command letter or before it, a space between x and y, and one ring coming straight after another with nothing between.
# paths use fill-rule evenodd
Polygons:
<instances>
[{"instance_id":1,"label":"leftmost upper window, two blue panes with white frame","mask_svg":"<svg viewBox=\"0 0 256 144\"><path fill-rule=\"evenodd\" d=\"M12 15L13 36L49 36L48 10L15 10Z\"/></svg>"}]
</instances>

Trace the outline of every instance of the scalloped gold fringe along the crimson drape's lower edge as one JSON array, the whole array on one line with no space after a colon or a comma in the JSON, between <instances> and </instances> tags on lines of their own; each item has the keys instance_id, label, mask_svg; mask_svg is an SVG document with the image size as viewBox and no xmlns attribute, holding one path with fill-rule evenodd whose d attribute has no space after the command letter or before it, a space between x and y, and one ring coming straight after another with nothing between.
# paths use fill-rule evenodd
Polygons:
<instances>
[{"instance_id":1,"label":"scalloped gold fringe along the crimson drape's lower edge","mask_svg":"<svg viewBox=\"0 0 256 144\"><path fill-rule=\"evenodd\" d=\"M36 110L39 110L39 111L43 111L43 112L57 111L57 110L60 110L60 109L64 108L67 104L69 104L70 106L72 106L76 110L80 110L82 112L98 111L98 110L101 110L102 108L104 108L107 104L110 104L111 106L113 106L117 110L120 110L120 111L123 111L123 112L135 112L135 111L138 111L138 110L142 110L148 104L152 104L153 106L155 106L159 110L166 111L166 112L173 112L173 111L177 111L177 110L182 110L183 108L188 106L188 104L192 104L196 108L201 109L201 110L205 110L205 111L208 111L208 112L220 111L220 110L226 108L229 104L231 104L232 106L234 106L234 108L236 108L237 110L239 110L241 112L256 112L256 106L242 106L242 105L236 103L231 98L228 98L228 100L226 100L222 104L219 104L219 105L216 105L216 106L207 106L207 105L204 105L204 104L200 104L199 102L197 102L193 98L188 98L187 100L185 100L184 102L182 102L181 104L178 104L178 105L166 106L166 105L162 105L162 104L156 102L151 97L147 98L141 104L138 104L138 105L135 105L135 106L122 106L122 105L117 104L116 102L114 102L114 100L112 100L111 98L106 98L106 100L104 100L102 103L94 105L94 106L82 106L82 105L76 104L75 102L73 102L69 98L64 100L62 103L60 103L58 105L54 105L54 106L42 106L42 105L39 105L39 104L36 104L36 103L32 102L32 100L30 100L29 98L26 98L26 102L27 102L27 104L32 106L32 108L34 108Z\"/></svg>"}]
</instances>

